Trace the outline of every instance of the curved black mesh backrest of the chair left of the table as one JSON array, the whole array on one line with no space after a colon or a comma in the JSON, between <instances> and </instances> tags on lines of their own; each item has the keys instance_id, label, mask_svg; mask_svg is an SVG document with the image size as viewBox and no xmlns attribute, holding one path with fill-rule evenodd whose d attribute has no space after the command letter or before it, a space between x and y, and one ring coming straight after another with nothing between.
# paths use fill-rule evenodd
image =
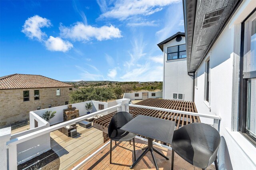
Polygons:
<instances>
[{"instance_id":1,"label":"curved black mesh backrest of the chair left of the table","mask_svg":"<svg viewBox=\"0 0 256 170\"><path fill-rule=\"evenodd\" d=\"M132 119L133 119L132 115L126 111L120 111L120 112L114 114L112 119L110 120L109 125L108 125L109 137L111 136L111 134L114 130L120 129L121 127L123 127L126 123L128 123ZM121 130L119 130L119 131L121 131Z\"/></svg>"}]
</instances>

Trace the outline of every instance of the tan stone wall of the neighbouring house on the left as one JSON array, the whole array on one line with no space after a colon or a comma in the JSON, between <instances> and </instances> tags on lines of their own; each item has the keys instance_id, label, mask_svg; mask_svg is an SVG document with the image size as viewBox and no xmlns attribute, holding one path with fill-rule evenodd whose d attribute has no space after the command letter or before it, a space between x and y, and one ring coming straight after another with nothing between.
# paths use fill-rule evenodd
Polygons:
<instances>
[{"instance_id":1,"label":"tan stone wall of the neighbouring house on the left","mask_svg":"<svg viewBox=\"0 0 256 170\"><path fill-rule=\"evenodd\" d=\"M30 88L0 90L0 128L18 121L29 119L29 112L65 105L72 87L59 88ZM60 89L60 96L56 90ZM73 88L72 88L73 89ZM23 91L29 90L29 101L23 101ZM39 90L39 100L34 100L34 90Z\"/></svg>"}]
</instances>

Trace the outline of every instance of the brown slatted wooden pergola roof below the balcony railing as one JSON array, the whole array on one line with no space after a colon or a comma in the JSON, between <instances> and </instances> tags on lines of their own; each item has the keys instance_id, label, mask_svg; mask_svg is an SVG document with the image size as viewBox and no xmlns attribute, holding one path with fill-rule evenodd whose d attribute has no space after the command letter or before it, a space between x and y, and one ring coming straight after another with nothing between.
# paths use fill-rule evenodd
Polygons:
<instances>
[{"instance_id":1,"label":"brown slatted wooden pergola roof below the balcony railing","mask_svg":"<svg viewBox=\"0 0 256 170\"><path fill-rule=\"evenodd\" d=\"M142 106L151 106L151 107L160 107L164 109L174 109L179 111L189 111L197 113L196 106L194 102L186 102L182 100L168 100L168 99L146 99L141 102L138 102L136 105L142 105ZM107 141L108 138L106 137L108 133L108 124L110 123L110 120L112 116L117 111L110 113L108 115L105 115L104 117L101 117L99 119L94 120L93 126L96 129L99 129L103 131L104 141ZM144 109L140 107L130 107L129 106L129 113L132 114L133 117L136 117L137 115L146 115L146 116L152 116L157 117L160 119L167 119L170 121L176 122L176 129L179 127L182 127L184 125L187 125L188 123L193 122L200 122L200 118L198 116L192 116L192 115L186 115L182 113L173 113L173 112L167 112L167 111L160 111L160 110L153 110L153 109Z\"/></svg>"}]
</instances>

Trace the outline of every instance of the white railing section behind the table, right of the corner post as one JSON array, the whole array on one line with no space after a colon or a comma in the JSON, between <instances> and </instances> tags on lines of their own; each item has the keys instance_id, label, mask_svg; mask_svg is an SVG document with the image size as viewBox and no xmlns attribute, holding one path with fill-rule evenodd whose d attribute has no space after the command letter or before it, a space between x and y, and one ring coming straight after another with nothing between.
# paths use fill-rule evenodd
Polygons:
<instances>
[{"instance_id":1,"label":"white railing section behind the table, right of the corner post","mask_svg":"<svg viewBox=\"0 0 256 170\"><path fill-rule=\"evenodd\" d=\"M194 112L190 112L190 111L180 111L180 110L174 110L174 109L165 109L165 108L160 108L160 107L142 106L142 105L136 105L136 104L125 104L126 109L128 109L129 106L139 107L139 108L143 108L143 109L160 110L160 111L166 111L166 112L172 112L172 113L180 113L180 114L210 118L210 119L214 120L213 127L219 131L219 124L220 124L221 117L217 116L217 115L194 113Z\"/></svg>"}]
</instances>

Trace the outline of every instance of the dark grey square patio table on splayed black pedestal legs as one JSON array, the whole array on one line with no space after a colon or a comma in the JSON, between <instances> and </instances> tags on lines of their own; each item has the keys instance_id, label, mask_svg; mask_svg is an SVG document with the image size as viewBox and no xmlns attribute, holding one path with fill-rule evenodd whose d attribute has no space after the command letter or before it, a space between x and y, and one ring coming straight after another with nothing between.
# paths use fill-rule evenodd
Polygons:
<instances>
[{"instance_id":1,"label":"dark grey square patio table on splayed black pedestal legs","mask_svg":"<svg viewBox=\"0 0 256 170\"><path fill-rule=\"evenodd\" d=\"M140 155L140 157L132 164L132 166L130 166L130 169L134 168L134 166L141 160L141 158L145 156L145 154L148 151L150 151L152 154L152 158L156 166L156 169L158 170L158 165L156 163L156 158L154 156L153 151L160 154L166 159L169 159L169 158L153 147L153 140L156 139L158 141L171 144L173 133L174 133L174 127L175 127L174 121L145 116L145 115L138 115L134 117L134 119L126 123L126 125L121 127L120 129L124 131L135 133L137 135L142 135L148 138L148 147L145 148L145 151Z\"/></svg>"}]
</instances>

